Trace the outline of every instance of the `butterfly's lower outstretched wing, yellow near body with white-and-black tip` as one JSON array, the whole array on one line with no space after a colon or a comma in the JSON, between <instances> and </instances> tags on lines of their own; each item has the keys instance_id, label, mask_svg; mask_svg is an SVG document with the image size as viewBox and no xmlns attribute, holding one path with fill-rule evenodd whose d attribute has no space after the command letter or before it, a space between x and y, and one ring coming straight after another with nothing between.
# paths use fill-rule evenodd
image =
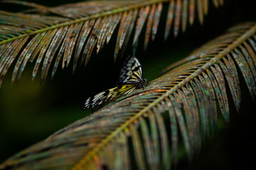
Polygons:
<instances>
[{"instance_id":1,"label":"butterfly's lower outstretched wing, yellow near body with white-and-black tip","mask_svg":"<svg viewBox=\"0 0 256 170\"><path fill-rule=\"evenodd\" d=\"M109 101L113 101L118 97L121 97L125 94L129 94L134 90L136 90L136 85L133 84L120 85L118 87L105 90L93 97L88 97L86 101L82 104L81 109L86 110L89 108L100 106L102 104L106 104Z\"/></svg>"}]
</instances>

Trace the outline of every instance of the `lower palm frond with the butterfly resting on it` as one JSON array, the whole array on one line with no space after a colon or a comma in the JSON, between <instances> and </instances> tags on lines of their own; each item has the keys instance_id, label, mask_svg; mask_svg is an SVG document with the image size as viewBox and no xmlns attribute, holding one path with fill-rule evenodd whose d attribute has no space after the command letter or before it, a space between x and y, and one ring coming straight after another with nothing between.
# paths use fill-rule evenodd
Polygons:
<instances>
[{"instance_id":1,"label":"lower palm frond with the butterfly resting on it","mask_svg":"<svg viewBox=\"0 0 256 170\"><path fill-rule=\"evenodd\" d=\"M61 129L0 168L130 169L134 168L130 160L134 155L138 169L170 169L170 162L177 163L179 133L191 159L216 131L217 104L223 120L230 121L227 87L239 111L237 69L255 99L255 41L256 23L232 27L172 64L168 73L145 89Z\"/></svg>"}]
</instances>

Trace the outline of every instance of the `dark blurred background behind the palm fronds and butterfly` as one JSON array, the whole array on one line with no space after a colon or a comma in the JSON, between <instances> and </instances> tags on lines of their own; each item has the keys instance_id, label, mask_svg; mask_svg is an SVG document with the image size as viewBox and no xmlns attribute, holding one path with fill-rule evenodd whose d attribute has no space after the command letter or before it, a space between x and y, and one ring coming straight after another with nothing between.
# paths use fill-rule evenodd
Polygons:
<instances>
[{"instance_id":1,"label":"dark blurred background behind the palm fronds and butterfly","mask_svg":"<svg viewBox=\"0 0 256 170\"><path fill-rule=\"evenodd\" d=\"M56 6L77 1L33 1L47 6ZM51 2L51 3L50 3ZM161 69L176 60L189 55L190 52L207 41L222 34L228 27L239 22L255 21L256 10L253 1L229 0L221 8L209 8L209 15L204 18L201 26L196 18L195 24L188 26L186 32L167 41L163 40L164 8L157 38L150 42L146 52L143 52L143 41L138 46L136 56L143 65L144 74L158 69L148 76L148 80L157 78ZM20 11L23 6L0 4L0 10ZM197 17L197 16L196 16ZM173 31L173 30L172 30ZM116 31L115 31L116 36ZM143 39L143 37L141 38ZM118 79L121 60L113 62L115 37L102 52L95 52L88 66L80 67L72 75L72 68L59 70L55 78L40 85L40 73L31 82L31 73L35 63L25 69L22 80L11 86L12 69L8 72L0 89L0 162L14 153L41 141L62 127L83 118L90 111L81 111L79 105L84 97L92 96L102 90L115 87ZM128 46L131 53L131 47ZM72 64L70 64L72 66ZM182 169L248 169L253 165L255 153L255 103L248 94L242 80L242 110L239 115L230 101L231 124L227 129L219 127L219 132L202 149L198 159L188 164L181 160ZM247 167L247 168L246 168Z\"/></svg>"}]
</instances>

